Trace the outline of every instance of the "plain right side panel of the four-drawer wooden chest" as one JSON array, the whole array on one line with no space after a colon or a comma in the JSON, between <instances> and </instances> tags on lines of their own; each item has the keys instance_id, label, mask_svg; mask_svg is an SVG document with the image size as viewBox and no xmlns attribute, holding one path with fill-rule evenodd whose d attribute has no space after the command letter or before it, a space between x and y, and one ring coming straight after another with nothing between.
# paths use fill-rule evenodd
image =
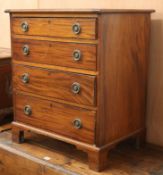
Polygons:
<instances>
[{"instance_id":1,"label":"plain right side panel of the four-drawer wooden chest","mask_svg":"<svg viewBox=\"0 0 163 175\"><path fill-rule=\"evenodd\" d=\"M145 128L150 15L104 15L98 31L103 34L98 48L96 128L101 146Z\"/></svg>"}]
</instances>

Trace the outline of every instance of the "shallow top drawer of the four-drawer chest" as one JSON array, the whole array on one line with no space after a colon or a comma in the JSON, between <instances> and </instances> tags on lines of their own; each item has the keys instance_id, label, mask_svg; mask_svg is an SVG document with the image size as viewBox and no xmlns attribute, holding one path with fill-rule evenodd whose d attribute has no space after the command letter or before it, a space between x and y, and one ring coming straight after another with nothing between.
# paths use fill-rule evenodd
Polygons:
<instances>
[{"instance_id":1,"label":"shallow top drawer of the four-drawer chest","mask_svg":"<svg viewBox=\"0 0 163 175\"><path fill-rule=\"evenodd\" d=\"M18 35L96 39L95 18L13 18L11 23Z\"/></svg>"}]
</instances>

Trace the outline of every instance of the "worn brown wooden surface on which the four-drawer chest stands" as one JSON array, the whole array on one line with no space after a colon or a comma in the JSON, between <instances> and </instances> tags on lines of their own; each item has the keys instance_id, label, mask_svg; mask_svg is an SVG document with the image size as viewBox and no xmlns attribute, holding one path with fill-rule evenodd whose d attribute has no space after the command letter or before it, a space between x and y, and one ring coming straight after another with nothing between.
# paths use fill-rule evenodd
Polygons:
<instances>
[{"instance_id":1,"label":"worn brown wooden surface on which the four-drawer chest stands","mask_svg":"<svg viewBox=\"0 0 163 175\"><path fill-rule=\"evenodd\" d=\"M110 153L110 168L97 173L89 169L87 155L45 136L26 133L24 144L11 141L11 133L0 133L0 174L3 175L146 175L163 173L163 152L123 143ZM50 160L45 160L44 157ZM15 166L16 163L16 166Z\"/></svg>"}]
</instances>

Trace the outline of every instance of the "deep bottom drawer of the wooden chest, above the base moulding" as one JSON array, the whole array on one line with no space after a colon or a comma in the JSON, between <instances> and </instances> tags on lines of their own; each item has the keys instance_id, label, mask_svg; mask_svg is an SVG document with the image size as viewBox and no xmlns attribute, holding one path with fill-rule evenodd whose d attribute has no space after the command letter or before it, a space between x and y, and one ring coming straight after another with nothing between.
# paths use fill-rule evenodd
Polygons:
<instances>
[{"instance_id":1,"label":"deep bottom drawer of the wooden chest, above the base moulding","mask_svg":"<svg viewBox=\"0 0 163 175\"><path fill-rule=\"evenodd\" d=\"M94 144L95 111L15 94L15 121Z\"/></svg>"}]
</instances>

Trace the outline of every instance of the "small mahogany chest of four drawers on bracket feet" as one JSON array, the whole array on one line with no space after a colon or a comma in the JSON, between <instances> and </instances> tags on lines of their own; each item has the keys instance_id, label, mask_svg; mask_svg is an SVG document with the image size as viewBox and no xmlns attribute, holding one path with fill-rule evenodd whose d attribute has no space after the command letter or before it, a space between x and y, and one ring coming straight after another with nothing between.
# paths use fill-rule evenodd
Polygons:
<instances>
[{"instance_id":1,"label":"small mahogany chest of four drawers on bracket feet","mask_svg":"<svg viewBox=\"0 0 163 175\"><path fill-rule=\"evenodd\" d=\"M151 10L8 10L13 141L24 131L88 153L100 171L120 141L145 132Z\"/></svg>"}]
</instances>

